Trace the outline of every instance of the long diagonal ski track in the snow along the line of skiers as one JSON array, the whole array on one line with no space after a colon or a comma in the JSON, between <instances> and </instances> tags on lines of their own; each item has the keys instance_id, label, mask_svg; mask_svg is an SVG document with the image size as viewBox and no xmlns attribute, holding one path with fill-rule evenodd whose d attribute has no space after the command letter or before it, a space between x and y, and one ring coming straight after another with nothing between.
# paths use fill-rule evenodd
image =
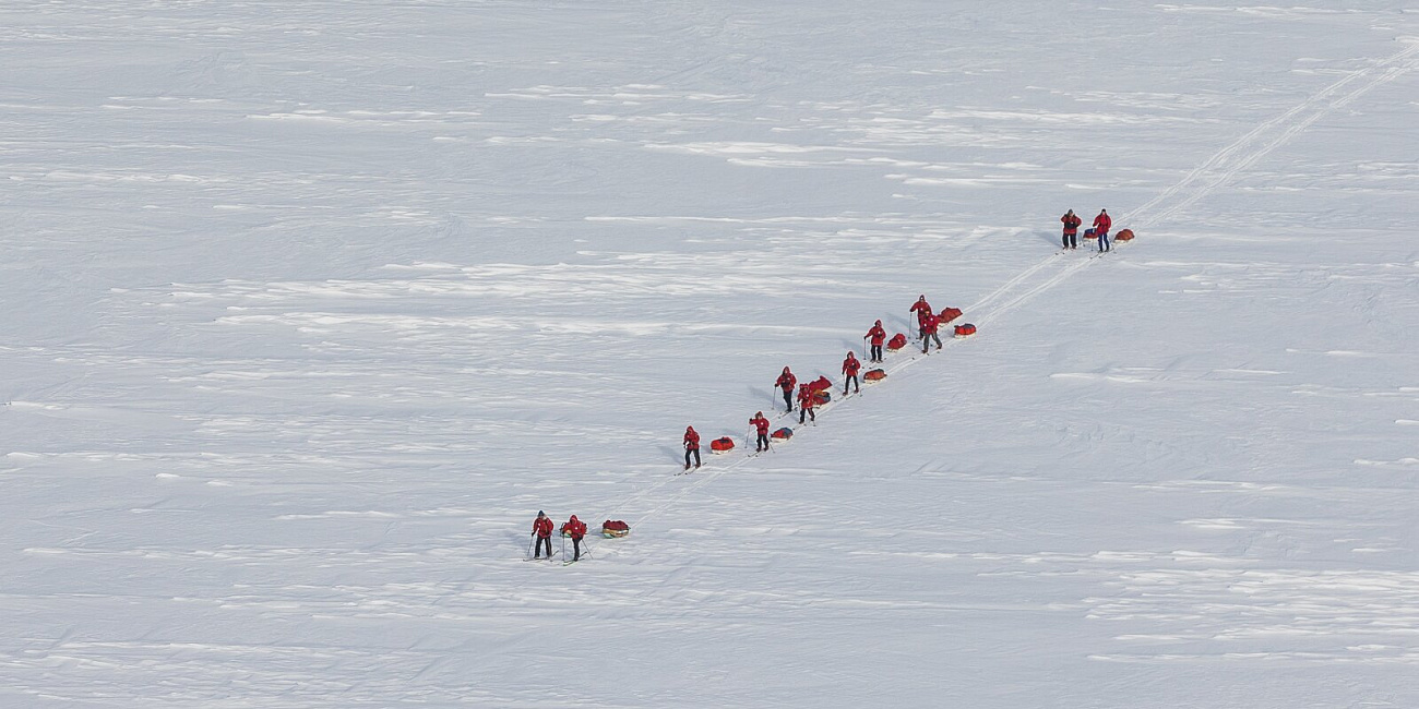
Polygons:
<instances>
[{"instance_id":1,"label":"long diagonal ski track in the snow along the line of skiers","mask_svg":"<svg viewBox=\"0 0 1419 709\"><path fill-rule=\"evenodd\" d=\"M1182 180L1176 184L1168 187L1156 197L1148 200L1142 206L1137 207L1127 217L1117 220L1118 223L1127 223L1130 228L1141 230L1149 225L1158 224L1195 204L1198 200L1206 197L1212 191L1232 182L1239 173L1254 164L1261 157L1266 157L1277 147L1286 145L1293 138L1304 132L1313 123L1320 121L1328 112L1342 108L1347 104L1358 99L1359 96L1368 94L1371 89L1393 81L1409 71L1419 67L1419 61L1415 57L1419 55L1419 44L1406 47L1405 50L1392 54L1384 60L1374 61L1366 67L1355 69L1340 81L1327 85L1325 88L1317 91L1315 94L1307 96L1305 101L1296 105L1290 111L1266 121L1243 136L1237 138L1226 147L1218 150L1212 157L1205 160L1198 167L1192 169ZM1358 85L1357 85L1358 84ZM1347 91L1348 89L1348 91ZM1115 244L1114 248L1122 248L1127 244ZM971 322L979 325L989 325L1005 315L1010 313L1016 308L1029 303L1040 294L1050 291L1051 288L1067 281L1074 274L1094 264L1094 258L1081 259L1066 259L1064 254L1054 252L1040 262L1026 268L1019 272L995 291L990 291L983 298L972 303L964 311L966 313L975 313ZM1060 264L1064 265L1060 265ZM1049 274L1043 281L1029 285L1030 281L1040 272ZM989 330L986 330L989 332ZM966 340L949 339L945 346L955 346ZM910 366L920 362L927 362L928 357L911 356L901 362L897 362L887 369L888 373L901 372ZM851 401L851 398L836 400L817 411L817 418L823 418L832 413L839 406ZM802 428L800 428L802 430ZM712 455L712 454L711 454ZM640 492L631 495L630 498L622 501L619 505L612 508L604 513L604 516L593 519L612 519L617 510L634 505L647 498L653 498L657 491L670 485L673 482L685 482L675 493L666 498L660 505L646 510L639 519L630 523L634 529L647 519L666 512L673 508L677 502L688 495L692 495L700 488L710 485L721 475L729 474L739 467L753 461L753 458L744 455L739 459L729 462L727 465L711 465L710 468L701 468L702 472L697 472L690 476L667 475L660 482L650 485ZM599 545L597 545L599 546ZM614 554L623 547L612 547L607 553Z\"/></svg>"}]
</instances>

